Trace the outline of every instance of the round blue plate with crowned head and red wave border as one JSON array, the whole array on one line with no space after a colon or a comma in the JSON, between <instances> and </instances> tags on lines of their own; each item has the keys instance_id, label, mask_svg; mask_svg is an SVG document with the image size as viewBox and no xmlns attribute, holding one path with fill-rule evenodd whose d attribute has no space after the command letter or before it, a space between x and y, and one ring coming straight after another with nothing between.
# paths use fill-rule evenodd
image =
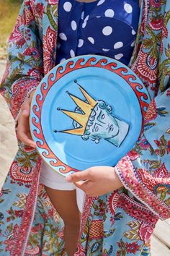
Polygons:
<instances>
[{"instance_id":1,"label":"round blue plate with crowned head and red wave border","mask_svg":"<svg viewBox=\"0 0 170 256\"><path fill-rule=\"evenodd\" d=\"M63 176L91 166L115 166L133 148L149 103L136 74L115 59L68 59L40 82L30 129L37 150Z\"/></svg>"}]
</instances>

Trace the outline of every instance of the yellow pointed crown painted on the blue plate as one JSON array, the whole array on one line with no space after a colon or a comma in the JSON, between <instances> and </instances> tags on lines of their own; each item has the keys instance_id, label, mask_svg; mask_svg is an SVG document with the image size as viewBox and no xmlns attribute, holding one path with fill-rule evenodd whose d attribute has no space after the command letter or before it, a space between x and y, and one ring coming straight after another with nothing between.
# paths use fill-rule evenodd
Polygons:
<instances>
[{"instance_id":1,"label":"yellow pointed crown painted on the blue plate","mask_svg":"<svg viewBox=\"0 0 170 256\"><path fill-rule=\"evenodd\" d=\"M79 84L78 84L79 85ZM84 88L81 88L79 85L79 89L81 90L81 93L86 98L86 101L82 101L80 98L77 98L76 96L72 95L71 93L68 93L72 100L76 103L79 108L81 108L81 111L84 112L84 114L79 114L77 112L67 111L67 110L61 110L64 114L71 117L74 121L78 122L81 127L76 129L67 129L61 132L69 133L72 135L84 135L86 124L89 120L89 116L91 115L91 111L93 110L94 106L97 105L97 101L94 100L94 98L91 98L91 96L84 90Z\"/></svg>"}]
</instances>

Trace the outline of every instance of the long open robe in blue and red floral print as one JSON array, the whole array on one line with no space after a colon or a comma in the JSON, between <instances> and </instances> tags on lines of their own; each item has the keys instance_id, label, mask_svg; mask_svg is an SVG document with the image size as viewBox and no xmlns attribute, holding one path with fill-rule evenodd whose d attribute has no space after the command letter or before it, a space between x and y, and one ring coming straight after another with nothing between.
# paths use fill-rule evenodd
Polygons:
<instances>
[{"instance_id":1,"label":"long open robe in blue and red floral print","mask_svg":"<svg viewBox=\"0 0 170 256\"><path fill-rule=\"evenodd\" d=\"M115 166L123 189L86 197L75 255L150 255L158 218L170 217L170 1L143 0L140 9L130 68L151 103L140 139ZM16 124L22 103L55 66L57 28L58 0L24 0L1 82ZM40 164L37 151L19 142L0 193L1 255L66 255L63 221L39 184Z\"/></svg>"}]
</instances>

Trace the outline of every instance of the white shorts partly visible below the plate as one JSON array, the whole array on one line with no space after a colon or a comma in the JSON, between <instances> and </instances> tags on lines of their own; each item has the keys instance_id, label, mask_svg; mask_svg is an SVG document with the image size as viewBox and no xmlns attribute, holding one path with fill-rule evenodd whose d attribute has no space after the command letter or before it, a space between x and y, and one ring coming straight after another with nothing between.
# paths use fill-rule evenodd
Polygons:
<instances>
[{"instance_id":1,"label":"white shorts partly visible below the plate","mask_svg":"<svg viewBox=\"0 0 170 256\"><path fill-rule=\"evenodd\" d=\"M76 187L73 183L67 182L64 176L53 171L53 169L50 168L50 166L48 166L45 161L42 161L42 166L40 170L40 183L44 184L46 187L50 187L51 189L56 190L76 189L77 206L82 213L85 193L81 189Z\"/></svg>"}]
</instances>

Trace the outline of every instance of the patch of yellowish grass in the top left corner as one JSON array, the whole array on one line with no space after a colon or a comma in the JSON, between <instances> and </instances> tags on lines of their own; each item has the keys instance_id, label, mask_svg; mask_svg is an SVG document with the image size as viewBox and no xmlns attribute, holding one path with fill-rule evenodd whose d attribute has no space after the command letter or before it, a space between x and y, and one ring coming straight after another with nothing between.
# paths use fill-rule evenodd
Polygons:
<instances>
[{"instance_id":1,"label":"patch of yellowish grass in the top left corner","mask_svg":"<svg viewBox=\"0 0 170 256\"><path fill-rule=\"evenodd\" d=\"M21 1L2 0L0 8L0 59L6 59L6 43L17 20Z\"/></svg>"}]
</instances>

